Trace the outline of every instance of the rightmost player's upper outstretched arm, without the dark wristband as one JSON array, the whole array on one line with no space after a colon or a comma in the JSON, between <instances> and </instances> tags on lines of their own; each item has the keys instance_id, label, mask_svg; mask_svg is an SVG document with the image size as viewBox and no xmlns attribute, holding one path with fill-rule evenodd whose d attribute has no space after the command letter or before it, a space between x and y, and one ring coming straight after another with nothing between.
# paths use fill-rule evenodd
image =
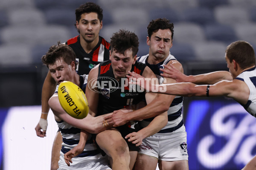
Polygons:
<instances>
[{"instance_id":1,"label":"rightmost player's upper outstretched arm, without the dark wristband","mask_svg":"<svg viewBox=\"0 0 256 170\"><path fill-rule=\"evenodd\" d=\"M177 68L175 68L172 64L164 65L165 69L160 68L160 71L163 71L161 76L175 79L177 82L192 82L195 84L215 84L216 82L222 80L232 80L232 76L228 71L214 71L207 74L198 74L198 75L190 75L186 76L181 73Z\"/></svg>"}]
</instances>

